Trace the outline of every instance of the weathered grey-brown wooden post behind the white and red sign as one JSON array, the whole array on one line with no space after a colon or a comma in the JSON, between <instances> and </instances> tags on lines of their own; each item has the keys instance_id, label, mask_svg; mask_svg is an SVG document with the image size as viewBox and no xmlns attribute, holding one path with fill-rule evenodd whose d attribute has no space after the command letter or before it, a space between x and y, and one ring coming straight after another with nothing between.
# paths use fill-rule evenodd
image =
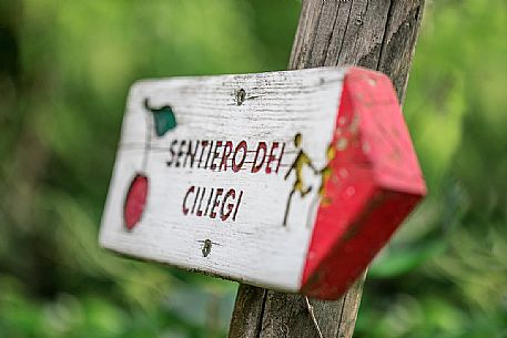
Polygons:
<instances>
[{"instance_id":1,"label":"weathered grey-brown wooden post behind the white and red sign","mask_svg":"<svg viewBox=\"0 0 507 338\"><path fill-rule=\"evenodd\" d=\"M303 1L288 68L378 70L403 102L423 9L424 0ZM311 299L311 314L303 296L241 285L229 337L352 337L361 294L358 280L339 300Z\"/></svg>"}]
</instances>

